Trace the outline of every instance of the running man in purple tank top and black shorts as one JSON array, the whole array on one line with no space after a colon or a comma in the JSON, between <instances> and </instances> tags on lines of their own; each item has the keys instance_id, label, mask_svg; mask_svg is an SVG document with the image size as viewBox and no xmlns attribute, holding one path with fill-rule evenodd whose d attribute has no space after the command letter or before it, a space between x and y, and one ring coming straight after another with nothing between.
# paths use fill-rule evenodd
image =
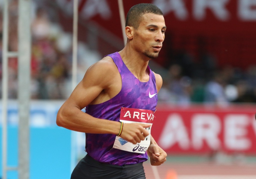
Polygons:
<instances>
[{"instance_id":1,"label":"running man in purple tank top and black shorts","mask_svg":"<svg viewBox=\"0 0 256 179\"><path fill-rule=\"evenodd\" d=\"M141 179L148 157L151 165L166 161L150 134L153 122L161 122L154 112L163 81L148 66L165 38L163 13L153 4L137 4L125 26L125 47L93 64L58 111L58 126L86 134L87 155L72 179Z\"/></svg>"}]
</instances>

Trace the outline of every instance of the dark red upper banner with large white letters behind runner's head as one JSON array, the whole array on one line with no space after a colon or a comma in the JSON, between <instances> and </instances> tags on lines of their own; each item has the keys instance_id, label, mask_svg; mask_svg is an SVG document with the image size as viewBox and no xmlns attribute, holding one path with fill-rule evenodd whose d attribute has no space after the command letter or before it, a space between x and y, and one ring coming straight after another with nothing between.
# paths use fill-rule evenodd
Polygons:
<instances>
[{"instance_id":1,"label":"dark red upper banner with large white letters behind runner's head","mask_svg":"<svg viewBox=\"0 0 256 179\"><path fill-rule=\"evenodd\" d=\"M72 17L73 2L56 0L63 13ZM256 24L255 0L130 0L123 1L126 16L138 3L153 3L164 13L167 29L201 33L243 31L253 33ZM122 38L118 1L81 0L79 17L94 21Z\"/></svg>"}]
</instances>

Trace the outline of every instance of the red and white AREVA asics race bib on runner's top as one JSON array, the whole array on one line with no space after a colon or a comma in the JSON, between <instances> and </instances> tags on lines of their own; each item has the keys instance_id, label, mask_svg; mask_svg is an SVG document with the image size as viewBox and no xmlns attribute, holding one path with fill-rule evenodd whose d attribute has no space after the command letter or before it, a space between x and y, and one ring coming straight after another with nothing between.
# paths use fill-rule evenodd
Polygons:
<instances>
[{"instance_id":1,"label":"red and white AREVA asics race bib on runner's top","mask_svg":"<svg viewBox=\"0 0 256 179\"><path fill-rule=\"evenodd\" d=\"M125 150L128 152L145 153L148 146L150 145L150 133L154 118L154 111L151 110L121 108L120 122L146 123L151 124L151 126L146 128L146 130L149 132L149 135L146 136L145 140L142 140L140 143L133 144L125 139L122 139L121 137L116 136L113 148Z\"/></svg>"}]
</instances>

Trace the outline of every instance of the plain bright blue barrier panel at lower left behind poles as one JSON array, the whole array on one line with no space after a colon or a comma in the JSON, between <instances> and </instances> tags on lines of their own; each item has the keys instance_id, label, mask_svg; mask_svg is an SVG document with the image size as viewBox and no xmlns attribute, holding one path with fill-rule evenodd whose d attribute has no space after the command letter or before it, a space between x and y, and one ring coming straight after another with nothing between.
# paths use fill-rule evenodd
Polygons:
<instances>
[{"instance_id":1,"label":"plain bright blue barrier panel at lower left behind poles","mask_svg":"<svg viewBox=\"0 0 256 179\"><path fill-rule=\"evenodd\" d=\"M8 127L8 166L18 164L18 129ZM2 127L0 128L2 139ZM0 144L2 153L2 143ZM71 131L61 127L30 128L30 178L70 178L71 174ZM2 155L0 160L2 176ZM8 171L8 179L18 178L17 171ZM0 177L1 178L1 177Z\"/></svg>"}]
</instances>

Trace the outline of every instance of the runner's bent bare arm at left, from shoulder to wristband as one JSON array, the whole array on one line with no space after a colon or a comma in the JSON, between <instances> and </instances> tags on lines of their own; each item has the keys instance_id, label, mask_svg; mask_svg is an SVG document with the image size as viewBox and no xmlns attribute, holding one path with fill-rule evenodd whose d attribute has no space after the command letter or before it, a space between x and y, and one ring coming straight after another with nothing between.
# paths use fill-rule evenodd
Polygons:
<instances>
[{"instance_id":1,"label":"runner's bent bare arm at left, from shoulder to wristband","mask_svg":"<svg viewBox=\"0 0 256 179\"><path fill-rule=\"evenodd\" d=\"M113 123L109 125L110 123L106 120L101 120L103 122L101 125L104 127L99 127L97 118L81 111L88 104L104 102L113 95L111 92L115 91L115 84L117 84L114 76L118 75L117 67L109 58L103 58L103 61L95 63L87 70L82 81L60 107L56 118L58 126L79 132L113 133ZM119 125L117 130L118 128Z\"/></svg>"}]
</instances>

